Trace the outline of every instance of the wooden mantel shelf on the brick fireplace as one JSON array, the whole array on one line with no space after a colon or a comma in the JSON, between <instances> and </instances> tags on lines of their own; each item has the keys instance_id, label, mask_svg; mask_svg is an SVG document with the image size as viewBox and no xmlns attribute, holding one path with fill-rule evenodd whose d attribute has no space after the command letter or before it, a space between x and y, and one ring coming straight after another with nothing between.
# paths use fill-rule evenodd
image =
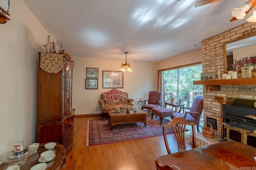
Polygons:
<instances>
[{"instance_id":1,"label":"wooden mantel shelf on the brick fireplace","mask_svg":"<svg viewBox=\"0 0 256 170\"><path fill-rule=\"evenodd\" d=\"M237 78L228 80L198 80L194 81L194 85L207 85L210 91L219 91L220 85L256 85L256 78Z\"/></svg>"}]
</instances>

